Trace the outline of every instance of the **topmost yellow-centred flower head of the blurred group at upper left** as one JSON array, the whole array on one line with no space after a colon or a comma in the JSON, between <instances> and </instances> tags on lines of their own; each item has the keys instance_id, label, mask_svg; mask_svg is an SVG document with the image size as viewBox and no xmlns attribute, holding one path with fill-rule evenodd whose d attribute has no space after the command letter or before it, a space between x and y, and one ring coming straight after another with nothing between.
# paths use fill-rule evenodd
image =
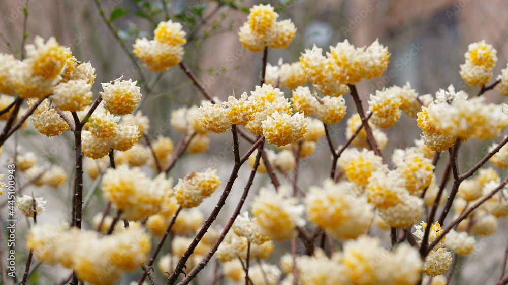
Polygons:
<instances>
[{"instance_id":1,"label":"topmost yellow-centred flower head of the blurred group at upper left","mask_svg":"<svg viewBox=\"0 0 508 285\"><path fill-rule=\"evenodd\" d=\"M43 38L36 36L34 43L35 45L25 46L26 62L33 75L43 79L59 75L71 57L70 49L60 46L53 37L44 43Z\"/></svg>"}]
</instances>

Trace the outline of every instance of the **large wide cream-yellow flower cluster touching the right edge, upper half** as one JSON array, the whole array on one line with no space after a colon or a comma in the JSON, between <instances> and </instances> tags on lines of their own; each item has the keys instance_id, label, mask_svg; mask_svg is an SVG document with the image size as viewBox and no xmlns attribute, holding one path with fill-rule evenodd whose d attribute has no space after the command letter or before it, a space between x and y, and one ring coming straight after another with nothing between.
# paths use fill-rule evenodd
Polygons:
<instances>
[{"instance_id":1,"label":"large wide cream-yellow flower cluster touching the right edge, upper half","mask_svg":"<svg viewBox=\"0 0 508 285\"><path fill-rule=\"evenodd\" d=\"M436 101L418 113L418 126L424 131L423 139L429 148L443 150L442 145L426 140L428 133L440 134L451 140L467 140L469 137L489 139L508 126L508 115L503 113L501 105L486 104L485 97L466 100L467 94L462 91L455 93L452 85L448 90L439 90Z\"/></svg>"}]
</instances>

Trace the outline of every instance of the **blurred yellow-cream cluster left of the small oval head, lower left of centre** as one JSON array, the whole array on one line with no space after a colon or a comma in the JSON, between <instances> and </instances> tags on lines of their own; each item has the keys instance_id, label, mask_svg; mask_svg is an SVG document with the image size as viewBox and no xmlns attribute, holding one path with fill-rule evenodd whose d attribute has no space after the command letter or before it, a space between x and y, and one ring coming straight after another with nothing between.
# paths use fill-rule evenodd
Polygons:
<instances>
[{"instance_id":1,"label":"blurred yellow-cream cluster left of the small oval head, lower left of centre","mask_svg":"<svg viewBox=\"0 0 508 285\"><path fill-rule=\"evenodd\" d=\"M104 197L122 210L125 219L136 221L161 210L165 197L171 191L171 183L172 180L167 180L164 173L151 180L140 168L128 169L121 165L106 170L101 188Z\"/></svg>"}]
</instances>

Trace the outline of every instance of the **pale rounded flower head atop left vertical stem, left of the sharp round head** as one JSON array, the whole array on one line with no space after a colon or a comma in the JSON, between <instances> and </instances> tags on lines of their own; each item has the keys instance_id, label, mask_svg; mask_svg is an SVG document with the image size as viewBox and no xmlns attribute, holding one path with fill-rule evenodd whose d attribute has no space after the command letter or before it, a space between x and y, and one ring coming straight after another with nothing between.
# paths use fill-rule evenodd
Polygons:
<instances>
[{"instance_id":1,"label":"pale rounded flower head atop left vertical stem, left of the sharp round head","mask_svg":"<svg viewBox=\"0 0 508 285\"><path fill-rule=\"evenodd\" d=\"M92 85L86 80L69 80L53 88L51 100L63 111L77 112L91 103Z\"/></svg>"}]
</instances>

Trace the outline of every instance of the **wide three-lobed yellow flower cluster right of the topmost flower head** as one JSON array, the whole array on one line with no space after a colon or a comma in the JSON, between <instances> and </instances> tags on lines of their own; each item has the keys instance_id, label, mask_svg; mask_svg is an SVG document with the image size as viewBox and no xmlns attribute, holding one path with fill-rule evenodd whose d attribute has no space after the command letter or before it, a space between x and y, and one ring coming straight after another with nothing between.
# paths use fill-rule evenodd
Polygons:
<instances>
[{"instance_id":1,"label":"wide three-lobed yellow flower cluster right of the topmost flower head","mask_svg":"<svg viewBox=\"0 0 508 285\"><path fill-rule=\"evenodd\" d=\"M348 91L345 84L362 78L380 76L388 67L390 53L376 40L368 47L355 48L347 40L330 47L326 57L323 49L314 47L300 56L300 64L309 81L324 95L338 96Z\"/></svg>"}]
</instances>

